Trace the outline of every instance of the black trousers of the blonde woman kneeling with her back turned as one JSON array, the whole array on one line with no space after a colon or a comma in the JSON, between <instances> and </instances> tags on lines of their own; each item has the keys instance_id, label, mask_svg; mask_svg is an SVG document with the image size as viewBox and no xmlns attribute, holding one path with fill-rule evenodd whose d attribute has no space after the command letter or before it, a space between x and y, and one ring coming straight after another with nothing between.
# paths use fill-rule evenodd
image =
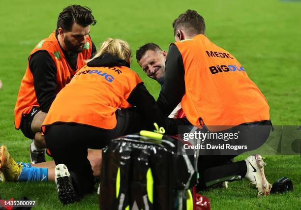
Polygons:
<instances>
[{"instance_id":1,"label":"black trousers of the blonde woman kneeling with her back turned","mask_svg":"<svg viewBox=\"0 0 301 210\"><path fill-rule=\"evenodd\" d=\"M56 165L65 164L79 196L91 193L94 177L87 158L88 149L103 149L122 135L140 131L144 124L135 108L116 111L117 125L112 130L83 124L55 124L45 134L48 149Z\"/></svg>"}]
</instances>

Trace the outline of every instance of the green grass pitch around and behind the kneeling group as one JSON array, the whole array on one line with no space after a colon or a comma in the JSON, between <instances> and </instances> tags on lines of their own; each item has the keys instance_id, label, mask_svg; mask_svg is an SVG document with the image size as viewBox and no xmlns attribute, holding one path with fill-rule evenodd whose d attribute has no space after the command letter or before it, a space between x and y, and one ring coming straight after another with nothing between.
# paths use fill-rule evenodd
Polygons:
<instances>
[{"instance_id":1,"label":"green grass pitch around and behind the kneeling group","mask_svg":"<svg viewBox=\"0 0 301 210\"><path fill-rule=\"evenodd\" d=\"M268 99L276 125L301 124L301 1L298 0L115 0L1 2L0 38L0 145L7 145L17 160L29 161L30 140L14 129L14 106L30 51L55 30L58 14L68 4L87 5L97 20L91 37L99 46L108 37L127 40L135 51L147 42L164 50L174 41L172 22L186 9L197 10L207 25L212 42L232 53ZM148 79L133 59L147 88L157 97L159 86ZM245 155L237 159L243 159ZM50 160L50 159L49 159ZM295 191L256 198L247 181L232 182L229 189L203 194L212 209L301 209L301 157L268 155L267 179L287 176ZM97 209L96 193L63 207L53 182L0 183L2 198L27 196L37 200L36 209Z\"/></svg>"}]
</instances>

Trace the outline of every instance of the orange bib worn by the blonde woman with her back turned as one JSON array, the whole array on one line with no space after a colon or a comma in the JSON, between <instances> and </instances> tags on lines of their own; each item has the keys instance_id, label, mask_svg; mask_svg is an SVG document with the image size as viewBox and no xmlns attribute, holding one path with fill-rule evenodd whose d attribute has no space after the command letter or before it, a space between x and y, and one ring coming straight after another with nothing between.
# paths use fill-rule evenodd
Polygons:
<instances>
[{"instance_id":1,"label":"orange bib worn by the blonde woman with her back turned","mask_svg":"<svg viewBox=\"0 0 301 210\"><path fill-rule=\"evenodd\" d=\"M56 123L115 128L116 110L131 107L126 99L141 82L138 74L125 66L83 67L58 93L43 122L43 133Z\"/></svg>"}]
</instances>

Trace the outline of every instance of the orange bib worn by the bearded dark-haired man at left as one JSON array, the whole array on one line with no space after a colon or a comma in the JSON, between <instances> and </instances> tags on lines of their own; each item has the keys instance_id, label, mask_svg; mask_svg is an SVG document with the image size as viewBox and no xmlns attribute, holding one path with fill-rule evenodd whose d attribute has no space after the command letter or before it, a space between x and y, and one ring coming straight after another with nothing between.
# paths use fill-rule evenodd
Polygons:
<instances>
[{"instance_id":1,"label":"orange bib worn by the bearded dark-haired man at left","mask_svg":"<svg viewBox=\"0 0 301 210\"><path fill-rule=\"evenodd\" d=\"M85 65L84 60L90 59L92 52L92 41L90 39L90 36L88 36L86 43L84 44L83 51L78 54L76 71L72 70L67 63L65 56L60 49L55 31L52 32L48 38L43 39L35 46L35 48L30 53L26 73L21 81L17 103L15 106L15 127L17 129L19 129L20 127L22 115L28 114L33 106L39 106L35 95L33 76L30 71L29 62L30 57L40 50L47 51L57 67L56 91L58 93L63 87L66 86L66 84L70 82L73 75Z\"/></svg>"}]
</instances>

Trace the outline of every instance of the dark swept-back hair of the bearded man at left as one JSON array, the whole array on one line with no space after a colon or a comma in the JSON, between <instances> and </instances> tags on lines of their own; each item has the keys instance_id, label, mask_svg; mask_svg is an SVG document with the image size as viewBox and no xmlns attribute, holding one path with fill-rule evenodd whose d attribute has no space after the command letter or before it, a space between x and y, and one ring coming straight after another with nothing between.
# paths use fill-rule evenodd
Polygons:
<instances>
[{"instance_id":1,"label":"dark swept-back hair of the bearded man at left","mask_svg":"<svg viewBox=\"0 0 301 210\"><path fill-rule=\"evenodd\" d=\"M57 30L62 28L63 30L70 31L74 23L87 27L89 25L94 26L96 24L96 20L94 19L89 7L83 7L75 4L63 8L58 18Z\"/></svg>"}]
</instances>

